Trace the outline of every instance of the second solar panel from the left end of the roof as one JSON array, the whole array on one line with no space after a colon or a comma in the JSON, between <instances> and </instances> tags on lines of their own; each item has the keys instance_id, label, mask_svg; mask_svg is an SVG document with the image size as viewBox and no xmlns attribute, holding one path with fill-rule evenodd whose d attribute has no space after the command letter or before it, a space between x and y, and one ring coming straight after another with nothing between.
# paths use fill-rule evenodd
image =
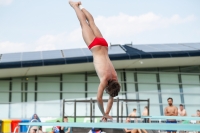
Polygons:
<instances>
[{"instance_id":1,"label":"second solar panel from the left end of the roof","mask_svg":"<svg viewBox=\"0 0 200 133\"><path fill-rule=\"evenodd\" d=\"M29 61L29 60L41 60L41 52L25 52L22 53L22 60Z\"/></svg>"}]
</instances>

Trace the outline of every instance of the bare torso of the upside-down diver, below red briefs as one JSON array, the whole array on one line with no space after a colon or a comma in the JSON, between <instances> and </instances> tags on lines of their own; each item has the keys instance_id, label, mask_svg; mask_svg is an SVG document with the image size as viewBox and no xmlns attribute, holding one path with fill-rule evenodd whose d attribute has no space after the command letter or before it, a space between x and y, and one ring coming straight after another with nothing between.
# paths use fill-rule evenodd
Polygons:
<instances>
[{"instance_id":1,"label":"bare torso of the upside-down diver, below red briefs","mask_svg":"<svg viewBox=\"0 0 200 133\"><path fill-rule=\"evenodd\" d=\"M108 47L95 46L91 51L93 54L94 67L100 81L117 80L117 73L108 56Z\"/></svg>"}]
</instances>

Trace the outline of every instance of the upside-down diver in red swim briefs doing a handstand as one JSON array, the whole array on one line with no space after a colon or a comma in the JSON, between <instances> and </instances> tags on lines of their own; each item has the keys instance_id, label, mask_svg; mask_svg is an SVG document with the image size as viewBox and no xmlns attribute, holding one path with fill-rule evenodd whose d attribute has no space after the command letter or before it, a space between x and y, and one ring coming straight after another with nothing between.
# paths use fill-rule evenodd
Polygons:
<instances>
[{"instance_id":1,"label":"upside-down diver in red swim briefs doing a handstand","mask_svg":"<svg viewBox=\"0 0 200 133\"><path fill-rule=\"evenodd\" d=\"M70 0L69 4L80 22L83 40L93 55L93 64L100 80L97 103L103 115L102 120L112 119L109 112L113 105L113 97L117 96L120 91L120 85L115 68L108 56L108 43L96 26L93 16L82 6L82 3ZM104 90L110 95L106 110L104 110L102 99Z\"/></svg>"}]
</instances>

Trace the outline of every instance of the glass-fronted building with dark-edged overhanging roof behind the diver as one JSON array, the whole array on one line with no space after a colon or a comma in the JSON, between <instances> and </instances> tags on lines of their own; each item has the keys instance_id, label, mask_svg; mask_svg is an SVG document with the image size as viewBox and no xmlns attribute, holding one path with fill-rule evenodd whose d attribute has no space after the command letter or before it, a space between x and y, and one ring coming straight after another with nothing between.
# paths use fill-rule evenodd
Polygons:
<instances>
[{"instance_id":1,"label":"glass-fronted building with dark-edged overhanging roof behind the diver","mask_svg":"<svg viewBox=\"0 0 200 133\"><path fill-rule=\"evenodd\" d=\"M167 98L172 97L175 106L183 104L189 116L195 114L196 110L200 109L200 50L145 52L138 47L110 46L109 55L117 69L121 85L118 97L150 99L150 115L156 116L164 115ZM99 79L90 60L91 55L72 57L73 54L77 55L73 50L60 53L64 54L63 59L66 59L63 64L59 64L63 61L61 58L53 58L45 52L40 53L43 57L40 60L31 59L32 57L24 60L28 53L25 53L26 56L18 53L20 61L17 61L16 53L15 58L11 58L9 54L1 55L0 119L30 118L34 113L40 117L61 117L62 99L96 98ZM136 57L135 53L140 57L132 58ZM165 57L166 53L170 54L170 57ZM177 53L180 55L177 56ZM148 58L148 54L152 57ZM129 59L125 55L129 55ZM44 59L45 56L50 57ZM104 98L108 98L106 93ZM138 115L141 115L146 105L147 103L139 102L123 103L123 114L128 115L136 108ZM104 106L106 107L106 103ZM97 105L95 107L95 115L100 115ZM73 102L66 103L65 109L65 115L73 116ZM77 115L89 114L89 104L77 103ZM111 115L116 115L116 103Z\"/></svg>"}]
</instances>

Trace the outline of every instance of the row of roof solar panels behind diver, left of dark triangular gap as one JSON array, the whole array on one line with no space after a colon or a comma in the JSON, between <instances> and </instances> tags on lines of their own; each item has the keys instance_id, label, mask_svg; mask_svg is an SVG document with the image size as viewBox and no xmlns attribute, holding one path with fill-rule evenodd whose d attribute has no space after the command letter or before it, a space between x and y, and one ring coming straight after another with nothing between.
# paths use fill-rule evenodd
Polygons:
<instances>
[{"instance_id":1,"label":"row of roof solar panels behind diver, left of dark triangular gap","mask_svg":"<svg viewBox=\"0 0 200 133\"><path fill-rule=\"evenodd\" d=\"M109 47L109 54L125 54L126 52L119 46ZM59 58L76 58L92 56L92 52L88 48L51 50L39 52L23 52L23 53L8 53L0 54L0 63L4 62L19 62L33 60L49 60Z\"/></svg>"}]
</instances>

